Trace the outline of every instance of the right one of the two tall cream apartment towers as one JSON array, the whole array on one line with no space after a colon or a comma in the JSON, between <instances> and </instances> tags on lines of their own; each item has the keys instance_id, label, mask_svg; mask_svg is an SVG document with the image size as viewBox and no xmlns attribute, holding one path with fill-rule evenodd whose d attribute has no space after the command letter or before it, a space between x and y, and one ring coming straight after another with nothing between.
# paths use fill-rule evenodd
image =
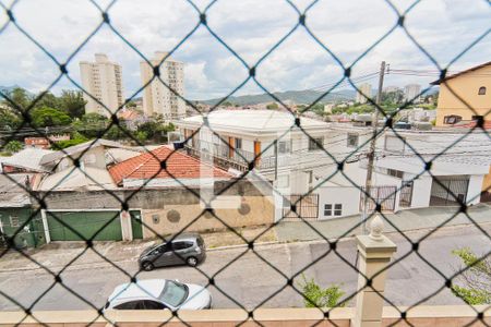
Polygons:
<instances>
[{"instance_id":1,"label":"right one of the two tall cream apartment towers","mask_svg":"<svg viewBox=\"0 0 491 327\"><path fill-rule=\"evenodd\" d=\"M168 52L155 52L151 60L153 66L157 66ZM140 72L143 85L154 77L154 68L146 61L140 63ZM180 96L184 96L184 63L168 57L159 68L160 80ZM163 114L166 119L179 119L185 117L185 102L171 92L159 78L154 78L143 90L143 112L146 116Z\"/></svg>"}]
</instances>

